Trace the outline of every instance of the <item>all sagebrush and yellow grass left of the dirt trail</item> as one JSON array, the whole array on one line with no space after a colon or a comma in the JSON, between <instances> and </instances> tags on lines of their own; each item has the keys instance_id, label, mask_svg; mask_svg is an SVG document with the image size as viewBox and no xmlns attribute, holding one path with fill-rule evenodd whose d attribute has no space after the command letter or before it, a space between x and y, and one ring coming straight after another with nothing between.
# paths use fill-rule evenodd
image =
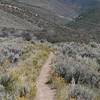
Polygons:
<instances>
[{"instance_id":1,"label":"all sagebrush and yellow grass left of the dirt trail","mask_svg":"<svg viewBox=\"0 0 100 100\"><path fill-rule=\"evenodd\" d=\"M0 38L0 100L34 100L36 79L50 48L23 38Z\"/></svg>"}]
</instances>

